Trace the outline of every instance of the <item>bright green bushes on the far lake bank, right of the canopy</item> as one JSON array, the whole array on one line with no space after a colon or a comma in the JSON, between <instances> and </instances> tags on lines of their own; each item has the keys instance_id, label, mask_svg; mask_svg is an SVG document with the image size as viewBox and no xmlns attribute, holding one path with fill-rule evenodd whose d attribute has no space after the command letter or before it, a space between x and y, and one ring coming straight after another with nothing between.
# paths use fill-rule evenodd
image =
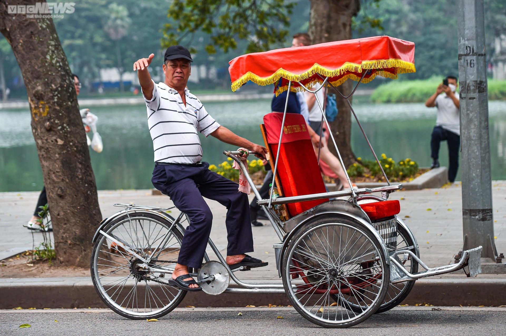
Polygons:
<instances>
[{"instance_id":1,"label":"bright green bushes on the far lake bank, right of the canopy","mask_svg":"<svg viewBox=\"0 0 506 336\"><path fill-rule=\"evenodd\" d=\"M392 80L379 85L371 95L375 103L424 103L443 81L441 77L424 80ZM506 100L506 81L488 80L488 99Z\"/></svg>"}]
</instances>

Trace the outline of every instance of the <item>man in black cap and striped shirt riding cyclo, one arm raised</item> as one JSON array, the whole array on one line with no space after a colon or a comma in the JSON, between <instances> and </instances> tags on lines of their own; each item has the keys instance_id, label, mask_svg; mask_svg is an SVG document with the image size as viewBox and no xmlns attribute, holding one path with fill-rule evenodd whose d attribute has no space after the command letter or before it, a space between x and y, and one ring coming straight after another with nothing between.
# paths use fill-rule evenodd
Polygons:
<instances>
[{"instance_id":1,"label":"man in black cap and striped shirt riding cyclo, one arm raised","mask_svg":"<svg viewBox=\"0 0 506 336\"><path fill-rule=\"evenodd\" d=\"M230 268L268 264L245 254L253 251L248 197L238 191L237 183L210 171L209 164L201 161L203 153L197 132L255 151L258 157L264 157L266 149L221 126L188 90L186 84L193 60L185 47L167 48L162 65L165 78L158 84L148 71L153 58L151 54L134 63L153 140L155 167L151 181L190 217L172 278L180 289L194 292L201 287L189 275L188 267L200 268L213 222L204 197L228 209L226 262Z\"/></svg>"}]
</instances>

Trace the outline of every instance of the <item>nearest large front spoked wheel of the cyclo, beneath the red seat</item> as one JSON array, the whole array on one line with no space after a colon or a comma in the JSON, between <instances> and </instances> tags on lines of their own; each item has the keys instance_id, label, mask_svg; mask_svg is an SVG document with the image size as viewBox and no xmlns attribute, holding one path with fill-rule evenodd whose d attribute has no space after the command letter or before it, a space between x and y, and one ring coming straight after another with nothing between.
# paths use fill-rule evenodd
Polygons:
<instances>
[{"instance_id":1,"label":"nearest large front spoked wheel of the cyclo, beneath the red seat","mask_svg":"<svg viewBox=\"0 0 506 336\"><path fill-rule=\"evenodd\" d=\"M382 244L364 224L344 217L317 218L301 227L282 261L283 285L293 307L328 328L367 319L388 291L390 272ZM350 309L350 303L362 307L360 312Z\"/></svg>"}]
</instances>

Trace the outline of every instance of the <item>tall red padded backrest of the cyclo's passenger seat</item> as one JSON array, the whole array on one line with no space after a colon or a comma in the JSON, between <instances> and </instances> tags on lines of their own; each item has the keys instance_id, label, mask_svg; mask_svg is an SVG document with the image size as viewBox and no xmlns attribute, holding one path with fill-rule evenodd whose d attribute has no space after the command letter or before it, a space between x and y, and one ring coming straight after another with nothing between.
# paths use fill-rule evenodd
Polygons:
<instances>
[{"instance_id":1,"label":"tall red padded backrest of the cyclo's passenger seat","mask_svg":"<svg viewBox=\"0 0 506 336\"><path fill-rule=\"evenodd\" d=\"M278 152L279 133L283 114L272 112L264 116L267 142L272 151L272 169ZM313 143L307 130L304 117L296 113L287 113L281 139L277 175L285 197L325 193L325 183L321 177ZM328 199L298 203L289 203L288 212L291 216L311 209Z\"/></svg>"}]
</instances>

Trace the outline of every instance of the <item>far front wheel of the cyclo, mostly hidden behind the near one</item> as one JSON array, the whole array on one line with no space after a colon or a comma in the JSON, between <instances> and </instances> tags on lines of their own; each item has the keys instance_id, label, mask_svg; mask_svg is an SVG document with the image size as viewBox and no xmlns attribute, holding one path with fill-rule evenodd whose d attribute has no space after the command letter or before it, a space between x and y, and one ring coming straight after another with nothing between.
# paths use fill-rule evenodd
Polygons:
<instances>
[{"instance_id":1,"label":"far front wheel of the cyclo, mostly hidden behind the near one","mask_svg":"<svg viewBox=\"0 0 506 336\"><path fill-rule=\"evenodd\" d=\"M406 229L402 226L397 227L397 248L396 251L400 250L409 250L414 254L417 254L416 246ZM418 272L418 263L413 261L411 257L407 254L400 256L400 263L406 268L408 272L414 274ZM385 300L379 306L376 314L386 312L397 305L399 305L404 299L409 295L411 290L413 289L414 280L405 281L401 283L390 283L388 286L387 295L385 296ZM371 288L374 290L374 288ZM332 299L335 302L339 302L342 298L339 298L337 295L332 295ZM352 302L343 302L343 305L347 306L349 309L354 312L360 313L363 311L364 307L356 305Z\"/></svg>"}]
</instances>

